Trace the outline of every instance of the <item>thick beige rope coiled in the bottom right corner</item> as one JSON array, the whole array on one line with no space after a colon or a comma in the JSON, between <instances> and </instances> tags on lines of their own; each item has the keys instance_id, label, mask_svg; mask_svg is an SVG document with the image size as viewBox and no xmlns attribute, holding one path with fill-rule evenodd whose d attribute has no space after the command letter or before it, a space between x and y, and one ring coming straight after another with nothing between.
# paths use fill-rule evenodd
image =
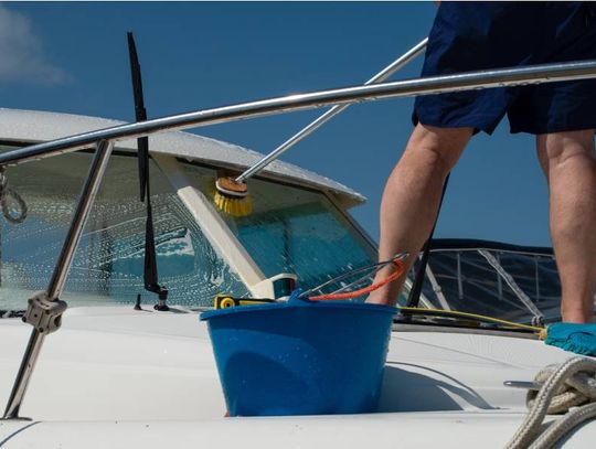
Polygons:
<instances>
[{"instance_id":1,"label":"thick beige rope coiled in the bottom right corner","mask_svg":"<svg viewBox=\"0 0 596 449\"><path fill-rule=\"evenodd\" d=\"M540 392L529 392L530 411L507 449L551 448L581 424L596 418L595 360L578 356L549 365L536 375L536 382L544 384ZM540 434L544 417L561 413L566 414Z\"/></svg>"}]
</instances>

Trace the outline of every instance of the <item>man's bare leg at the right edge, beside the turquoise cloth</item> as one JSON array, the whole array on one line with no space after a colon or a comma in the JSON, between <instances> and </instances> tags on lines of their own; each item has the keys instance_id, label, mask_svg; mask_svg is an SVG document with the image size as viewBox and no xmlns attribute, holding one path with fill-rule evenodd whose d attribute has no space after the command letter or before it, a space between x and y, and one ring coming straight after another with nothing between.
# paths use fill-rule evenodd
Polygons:
<instances>
[{"instance_id":1,"label":"man's bare leg at the right edge, beside the turquoise cloth","mask_svg":"<svg viewBox=\"0 0 596 449\"><path fill-rule=\"evenodd\" d=\"M536 136L536 149L549 182L563 321L590 322L596 290L594 130Z\"/></svg>"}]
</instances>

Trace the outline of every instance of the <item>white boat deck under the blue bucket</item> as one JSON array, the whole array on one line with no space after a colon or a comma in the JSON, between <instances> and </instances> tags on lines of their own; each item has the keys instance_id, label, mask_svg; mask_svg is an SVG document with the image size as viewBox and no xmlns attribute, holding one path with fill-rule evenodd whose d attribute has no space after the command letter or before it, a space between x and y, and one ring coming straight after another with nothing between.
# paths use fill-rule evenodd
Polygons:
<instances>
[{"instance_id":1,"label":"white boat deck under the blue bucket","mask_svg":"<svg viewBox=\"0 0 596 449\"><path fill-rule=\"evenodd\" d=\"M31 328L18 319L0 327L6 404ZM71 309L45 342L21 409L34 421L0 423L0 446L362 448L374 435L375 447L501 448L525 415L524 391L503 382L531 381L571 355L528 339L393 332L382 413L225 418L196 313ZM587 425L565 447L586 448L595 438L596 426Z\"/></svg>"}]
</instances>

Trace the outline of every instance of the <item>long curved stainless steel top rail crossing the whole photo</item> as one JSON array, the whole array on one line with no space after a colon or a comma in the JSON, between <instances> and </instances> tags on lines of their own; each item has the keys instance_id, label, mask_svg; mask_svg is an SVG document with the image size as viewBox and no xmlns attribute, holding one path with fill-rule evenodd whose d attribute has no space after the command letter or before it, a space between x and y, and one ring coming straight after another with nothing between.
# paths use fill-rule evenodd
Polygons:
<instances>
[{"instance_id":1,"label":"long curved stainless steel top rail crossing the whole photo","mask_svg":"<svg viewBox=\"0 0 596 449\"><path fill-rule=\"evenodd\" d=\"M596 61L470 72L290 95L156 118L137 124L120 125L56 139L2 153L0 154L0 165L15 164L18 162L88 148L99 140L117 141L136 139L157 132L223 124L253 117L265 117L290 110L315 109L329 105L443 94L473 88L519 86L587 78L596 78Z\"/></svg>"}]
</instances>

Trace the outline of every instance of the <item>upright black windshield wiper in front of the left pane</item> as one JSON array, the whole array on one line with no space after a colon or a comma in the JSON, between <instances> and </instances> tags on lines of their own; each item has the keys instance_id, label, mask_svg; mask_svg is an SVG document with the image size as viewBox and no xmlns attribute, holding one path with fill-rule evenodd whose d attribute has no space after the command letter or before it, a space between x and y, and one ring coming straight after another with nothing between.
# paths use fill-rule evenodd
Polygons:
<instances>
[{"instance_id":1,"label":"upright black windshield wiper in front of the left pane","mask_svg":"<svg viewBox=\"0 0 596 449\"><path fill-rule=\"evenodd\" d=\"M137 121L145 121L147 120L147 110L145 109L137 46L135 45L135 38L132 36L131 32L127 33L127 38L128 54L130 56L130 74L132 76L132 93L135 96L135 118ZM168 289L158 284L153 211L151 209L151 191L149 188L149 138L141 137L137 139L137 147L139 160L140 201L145 201L145 199L147 199L147 221L145 224L145 289L159 296L159 302L155 307L156 310L169 310L166 303L168 299ZM138 302L140 302L139 299Z\"/></svg>"}]
</instances>

